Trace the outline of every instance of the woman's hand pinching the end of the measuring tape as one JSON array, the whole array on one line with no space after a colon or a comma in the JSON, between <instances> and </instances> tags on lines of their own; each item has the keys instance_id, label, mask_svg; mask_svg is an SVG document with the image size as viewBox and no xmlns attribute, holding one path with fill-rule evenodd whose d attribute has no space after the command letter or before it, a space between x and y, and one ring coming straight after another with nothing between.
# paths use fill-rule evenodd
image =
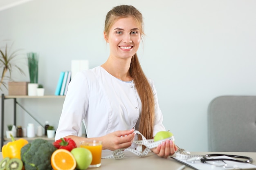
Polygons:
<instances>
[{"instance_id":1,"label":"woman's hand pinching the end of the measuring tape","mask_svg":"<svg viewBox=\"0 0 256 170\"><path fill-rule=\"evenodd\" d=\"M115 131L101 137L102 149L117 150L130 147L135 137L133 132L134 129Z\"/></svg>"}]
</instances>

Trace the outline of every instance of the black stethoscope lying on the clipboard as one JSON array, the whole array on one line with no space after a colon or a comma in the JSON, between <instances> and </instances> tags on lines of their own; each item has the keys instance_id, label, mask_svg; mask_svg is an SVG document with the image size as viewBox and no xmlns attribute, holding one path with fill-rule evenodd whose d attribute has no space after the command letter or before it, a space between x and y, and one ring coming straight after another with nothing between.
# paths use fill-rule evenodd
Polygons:
<instances>
[{"instance_id":1,"label":"black stethoscope lying on the clipboard","mask_svg":"<svg viewBox=\"0 0 256 170\"><path fill-rule=\"evenodd\" d=\"M214 157L214 156L227 156L227 157L240 158L240 159L245 159L245 160L228 159L228 158L217 158L217 159L210 158L210 157ZM234 161L234 162L240 162L240 163L251 163L252 162L252 158L250 158L250 157L239 156L239 155L226 155L226 154L204 155L200 160L202 163L206 163L207 161Z\"/></svg>"}]
</instances>

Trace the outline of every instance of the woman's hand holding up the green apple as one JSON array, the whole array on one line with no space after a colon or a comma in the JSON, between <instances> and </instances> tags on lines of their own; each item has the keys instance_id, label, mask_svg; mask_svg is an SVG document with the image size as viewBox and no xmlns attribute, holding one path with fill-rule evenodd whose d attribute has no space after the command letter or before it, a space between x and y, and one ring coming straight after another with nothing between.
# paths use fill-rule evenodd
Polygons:
<instances>
[{"instance_id":1,"label":"woman's hand holding up the green apple","mask_svg":"<svg viewBox=\"0 0 256 170\"><path fill-rule=\"evenodd\" d=\"M158 145L156 148L151 149L152 152L157 154L159 157L167 158L175 153L178 148L173 144L173 141L166 139L162 144Z\"/></svg>"}]
</instances>

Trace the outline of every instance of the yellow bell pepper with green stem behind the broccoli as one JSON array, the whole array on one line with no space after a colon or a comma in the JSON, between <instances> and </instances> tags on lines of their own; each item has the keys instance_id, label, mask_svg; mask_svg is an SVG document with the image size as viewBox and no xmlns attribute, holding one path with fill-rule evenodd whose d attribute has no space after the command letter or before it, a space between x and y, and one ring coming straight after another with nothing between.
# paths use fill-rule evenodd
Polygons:
<instances>
[{"instance_id":1,"label":"yellow bell pepper with green stem behind the broccoli","mask_svg":"<svg viewBox=\"0 0 256 170\"><path fill-rule=\"evenodd\" d=\"M22 138L15 140L12 135L10 136L12 141L8 142L6 145L2 147L2 157L3 158L9 157L10 159L11 158L21 159L20 150L23 146L25 146L29 142Z\"/></svg>"}]
</instances>

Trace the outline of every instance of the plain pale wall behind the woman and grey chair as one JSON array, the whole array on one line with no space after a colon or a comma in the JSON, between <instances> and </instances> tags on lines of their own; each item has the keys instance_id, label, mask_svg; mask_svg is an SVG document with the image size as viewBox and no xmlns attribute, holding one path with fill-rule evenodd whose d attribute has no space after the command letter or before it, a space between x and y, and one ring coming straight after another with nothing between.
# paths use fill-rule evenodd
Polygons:
<instances>
[{"instance_id":1,"label":"plain pale wall behind the woman and grey chair","mask_svg":"<svg viewBox=\"0 0 256 170\"><path fill-rule=\"evenodd\" d=\"M71 60L88 59L90 68L106 61L104 20L118 4L132 4L144 15L147 36L138 54L155 82L166 129L181 148L207 151L209 102L220 95L256 95L256 1L34 0L0 11L0 40L39 53L39 83L54 94ZM26 76L13 75L29 81L22 67ZM63 101L21 100L42 124L54 126ZM12 106L6 102L4 124L12 123ZM33 122L22 110L19 116L22 126Z\"/></svg>"}]
</instances>

